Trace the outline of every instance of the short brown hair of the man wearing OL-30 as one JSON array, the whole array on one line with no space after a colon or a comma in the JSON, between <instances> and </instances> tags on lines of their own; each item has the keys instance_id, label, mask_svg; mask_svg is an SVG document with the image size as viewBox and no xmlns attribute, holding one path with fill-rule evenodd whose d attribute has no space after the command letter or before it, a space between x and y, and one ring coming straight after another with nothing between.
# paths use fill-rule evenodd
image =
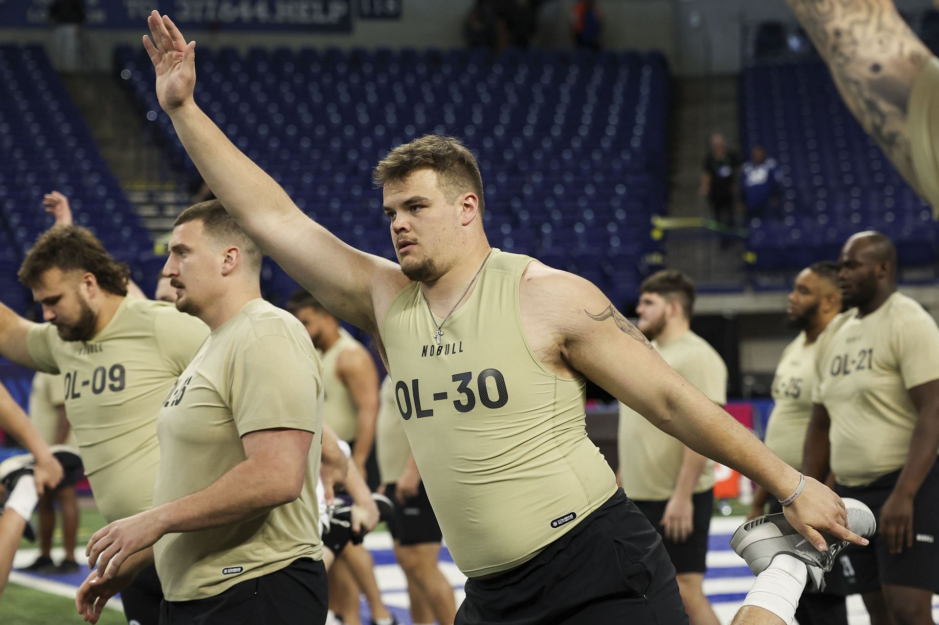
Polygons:
<instances>
[{"instance_id":1,"label":"short brown hair of the man wearing OL-30","mask_svg":"<svg viewBox=\"0 0 939 625\"><path fill-rule=\"evenodd\" d=\"M400 182L419 169L437 172L440 189L452 202L463 191L479 198L479 214L484 211L483 176L479 164L466 145L455 137L425 134L409 144L398 145L380 160L372 174L377 187Z\"/></svg>"}]
</instances>

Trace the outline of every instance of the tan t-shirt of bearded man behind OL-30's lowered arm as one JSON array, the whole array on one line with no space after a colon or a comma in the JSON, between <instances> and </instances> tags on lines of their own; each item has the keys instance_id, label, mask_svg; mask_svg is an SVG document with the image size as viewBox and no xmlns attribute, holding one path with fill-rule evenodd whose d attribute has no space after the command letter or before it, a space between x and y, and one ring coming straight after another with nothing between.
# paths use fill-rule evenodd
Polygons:
<instances>
[{"instance_id":1,"label":"tan t-shirt of bearded man behind OL-30's lowered arm","mask_svg":"<svg viewBox=\"0 0 939 625\"><path fill-rule=\"evenodd\" d=\"M717 405L727 404L727 365L714 347L692 331L674 341L653 343L669 366ZM620 480L626 495L639 501L665 501L675 490L685 444L620 404ZM714 488L714 462L701 471L695 493Z\"/></svg>"}]
</instances>

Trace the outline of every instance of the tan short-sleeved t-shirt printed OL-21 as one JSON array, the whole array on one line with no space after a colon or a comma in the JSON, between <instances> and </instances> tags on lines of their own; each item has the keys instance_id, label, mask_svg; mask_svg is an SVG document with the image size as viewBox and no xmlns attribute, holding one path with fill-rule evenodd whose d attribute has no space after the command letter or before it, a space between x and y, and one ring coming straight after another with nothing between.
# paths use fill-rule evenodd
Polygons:
<instances>
[{"instance_id":1,"label":"tan short-sleeved t-shirt printed OL-21","mask_svg":"<svg viewBox=\"0 0 939 625\"><path fill-rule=\"evenodd\" d=\"M860 319L856 309L843 312L819 339L816 366L812 399L831 419L835 479L862 486L900 469L918 419L908 390L939 379L930 314L900 293Z\"/></svg>"}]
</instances>

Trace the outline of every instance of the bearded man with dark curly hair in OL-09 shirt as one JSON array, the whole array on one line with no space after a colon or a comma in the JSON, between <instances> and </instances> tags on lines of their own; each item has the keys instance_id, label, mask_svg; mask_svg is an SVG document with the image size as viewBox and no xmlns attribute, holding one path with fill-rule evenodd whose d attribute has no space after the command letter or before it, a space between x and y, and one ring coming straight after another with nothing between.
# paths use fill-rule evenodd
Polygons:
<instances>
[{"instance_id":1,"label":"bearded man with dark curly hair in OL-09 shirt","mask_svg":"<svg viewBox=\"0 0 939 625\"><path fill-rule=\"evenodd\" d=\"M69 424L109 522L152 507L157 414L208 335L205 324L171 304L129 297L129 276L88 230L58 225L39 236L19 272L46 323L0 304L0 355L63 374ZM128 621L155 625L162 600L156 571L143 572L123 600Z\"/></svg>"}]
</instances>

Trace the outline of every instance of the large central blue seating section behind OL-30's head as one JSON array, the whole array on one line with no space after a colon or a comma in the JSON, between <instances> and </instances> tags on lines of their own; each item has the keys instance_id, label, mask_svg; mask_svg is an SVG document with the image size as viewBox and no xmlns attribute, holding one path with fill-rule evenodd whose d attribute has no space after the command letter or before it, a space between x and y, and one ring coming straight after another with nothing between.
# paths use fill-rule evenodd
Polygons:
<instances>
[{"instance_id":1,"label":"large central blue seating section behind OL-30's head","mask_svg":"<svg viewBox=\"0 0 939 625\"><path fill-rule=\"evenodd\" d=\"M192 170L146 55L120 48L115 59ZM394 145L449 133L477 153L494 245L576 271L614 301L635 297L649 218L665 206L660 54L222 49L199 50L196 70L196 101L229 139L349 244L393 258L372 168ZM275 300L293 288L273 264L265 279Z\"/></svg>"}]
</instances>

